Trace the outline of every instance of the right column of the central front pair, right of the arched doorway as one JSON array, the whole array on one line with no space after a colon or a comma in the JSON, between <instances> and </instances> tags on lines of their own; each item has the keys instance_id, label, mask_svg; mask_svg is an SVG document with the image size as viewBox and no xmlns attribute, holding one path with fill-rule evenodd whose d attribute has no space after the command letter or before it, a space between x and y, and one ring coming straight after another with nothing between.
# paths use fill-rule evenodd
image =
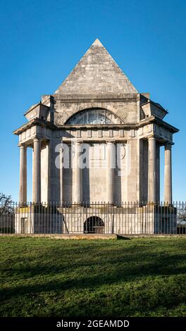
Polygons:
<instances>
[{"instance_id":1,"label":"right column of the central front pair, right of the arched doorway","mask_svg":"<svg viewBox=\"0 0 186 331\"><path fill-rule=\"evenodd\" d=\"M113 142L106 144L106 202L113 204L113 172L116 166L116 151Z\"/></svg>"}]
</instances>

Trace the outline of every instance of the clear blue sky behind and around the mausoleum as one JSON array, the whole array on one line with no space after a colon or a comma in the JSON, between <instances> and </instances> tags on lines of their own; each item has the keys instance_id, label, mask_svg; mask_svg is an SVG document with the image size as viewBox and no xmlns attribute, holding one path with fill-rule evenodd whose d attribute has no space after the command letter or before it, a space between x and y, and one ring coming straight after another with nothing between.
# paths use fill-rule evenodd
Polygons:
<instances>
[{"instance_id":1,"label":"clear blue sky behind and around the mausoleum","mask_svg":"<svg viewBox=\"0 0 186 331\"><path fill-rule=\"evenodd\" d=\"M185 17L182 0L1 0L0 191L18 200L18 137L12 132L25 123L23 113L56 90L98 37L135 87L150 92L168 109L168 123L180 129L173 198L186 200ZM30 199L30 153L28 163Z\"/></svg>"}]
</instances>

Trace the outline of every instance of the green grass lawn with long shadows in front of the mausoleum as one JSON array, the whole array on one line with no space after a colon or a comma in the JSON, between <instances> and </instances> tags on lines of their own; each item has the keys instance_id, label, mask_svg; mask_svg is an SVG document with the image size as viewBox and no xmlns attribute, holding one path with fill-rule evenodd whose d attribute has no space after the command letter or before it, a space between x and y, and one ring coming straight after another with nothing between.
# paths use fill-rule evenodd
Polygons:
<instances>
[{"instance_id":1,"label":"green grass lawn with long shadows in front of the mausoleum","mask_svg":"<svg viewBox=\"0 0 186 331\"><path fill-rule=\"evenodd\" d=\"M0 316L186 316L186 237L0 237Z\"/></svg>"}]
</instances>

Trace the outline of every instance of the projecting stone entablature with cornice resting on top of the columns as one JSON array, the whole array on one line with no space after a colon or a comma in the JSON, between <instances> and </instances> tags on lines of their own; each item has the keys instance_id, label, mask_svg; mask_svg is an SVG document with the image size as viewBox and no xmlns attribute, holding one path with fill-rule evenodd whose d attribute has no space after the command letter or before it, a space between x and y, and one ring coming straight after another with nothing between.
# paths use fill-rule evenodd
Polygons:
<instances>
[{"instance_id":1,"label":"projecting stone entablature with cornice resting on top of the columns","mask_svg":"<svg viewBox=\"0 0 186 331\"><path fill-rule=\"evenodd\" d=\"M159 120L154 116L141 120L136 124L98 124L98 125L61 125L56 126L50 122L35 118L30 120L18 130L14 131L19 136L20 143L29 143L36 136L41 139L145 139L156 135L160 141L173 142L173 133L178 129Z\"/></svg>"}]
</instances>

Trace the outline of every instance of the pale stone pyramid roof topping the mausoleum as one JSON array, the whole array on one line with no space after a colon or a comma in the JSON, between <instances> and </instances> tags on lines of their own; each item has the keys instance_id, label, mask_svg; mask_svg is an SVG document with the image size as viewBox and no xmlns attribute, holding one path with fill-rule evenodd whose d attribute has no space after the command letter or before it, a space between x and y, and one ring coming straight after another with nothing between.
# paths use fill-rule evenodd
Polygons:
<instances>
[{"instance_id":1,"label":"pale stone pyramid roof topping the mausoleum","mask_svg":"<svg viewBox=\"0 0 186 331\"><path fill-rule=\"evenodd\" d=\"M131 94L137 89L96 39L55 93Z\"/></svg>"}]
</instances>

